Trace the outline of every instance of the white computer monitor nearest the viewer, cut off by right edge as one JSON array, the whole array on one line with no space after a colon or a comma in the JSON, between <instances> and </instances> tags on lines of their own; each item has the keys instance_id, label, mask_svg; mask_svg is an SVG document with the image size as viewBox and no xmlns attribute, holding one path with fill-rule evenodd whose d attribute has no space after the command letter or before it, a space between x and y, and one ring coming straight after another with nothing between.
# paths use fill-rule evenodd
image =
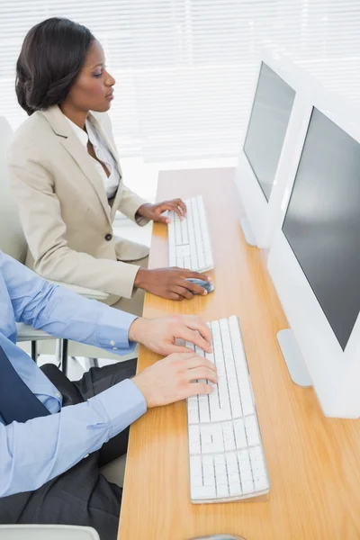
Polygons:
<instances>
[{"instance_id":1,"label":"white computer monitor nearest the viewer, cut off by right edge","mask_svg":"<svg viewBox=\"0 0 360 540\"><path fill-rule=\"evenodd\" d=\"M308 374L324 413L358 418L360 114L327 94L312 103L268 257L291 326L278 338L293 379Z\"/></svg>"}]
</instances>

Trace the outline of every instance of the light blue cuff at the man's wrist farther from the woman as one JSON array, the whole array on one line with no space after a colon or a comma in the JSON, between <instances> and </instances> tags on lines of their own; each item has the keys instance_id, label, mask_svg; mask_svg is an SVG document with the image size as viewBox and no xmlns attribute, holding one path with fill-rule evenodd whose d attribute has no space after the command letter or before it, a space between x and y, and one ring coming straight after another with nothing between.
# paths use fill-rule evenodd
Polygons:
<instances>
[{"instance_id":1,"label":"light blue cuff at the man's wrist farther from the woman","mask_svg":"<svg viewBox=\"0 0 360 540\"><path fill-rule=\"evenodd\" d=\"M147 411L144 396L130 379L114 384L89 401L100 402L110 422L110 438L115 437Z\"/></svg>"}]
</instances>

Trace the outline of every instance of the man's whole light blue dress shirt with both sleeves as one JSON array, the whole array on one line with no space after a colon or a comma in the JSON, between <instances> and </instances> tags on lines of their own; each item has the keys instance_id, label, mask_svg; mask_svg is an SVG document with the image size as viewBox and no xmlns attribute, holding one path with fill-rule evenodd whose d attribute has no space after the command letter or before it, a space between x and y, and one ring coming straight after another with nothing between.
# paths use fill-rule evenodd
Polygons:
<instances>
[{"instance_id":1,"label":"man's whole light blue dress shirt with both sleeves","mask_svg":"<svg viewBox=\"0 0 360 540\"><path fill-rule=\"evenodd\" d=\"M146 411L143 395L129 379L85 403L61 409L56 387L16 347L15 322L121 355L135 347L128 339L135 319L49 284L0 251L0 346L23 382L52 413L8 426L0 417L0 497L36 490L98 450Z\"/></svg>"}]
</instances>

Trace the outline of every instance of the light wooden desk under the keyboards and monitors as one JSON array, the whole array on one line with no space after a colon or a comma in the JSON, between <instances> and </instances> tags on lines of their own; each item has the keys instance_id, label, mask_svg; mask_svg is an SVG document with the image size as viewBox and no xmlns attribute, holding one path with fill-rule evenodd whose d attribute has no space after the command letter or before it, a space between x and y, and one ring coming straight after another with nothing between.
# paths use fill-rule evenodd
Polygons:
<instances>
[{"instance_id":1,"label":"light wooden desk under the keyboards and monitors","mask_svg":"<svg viewBox=\"0 0 360 540\"><path fill-rule=\"evenodd\" d=\"M157 200L204 196L216 289L181 303L148 295L145 316L198 313L215 320L238 315L272 483L270 500L192 505L185 403L150 410L130 431L119 540L187 540L226 532L247 540L359 539L360 421L325 418L313 390L291 382L276 341L287 321L264 254L244 241L233 174L233 169L161 173ZM166 228L157 225L150 265L166 265L166 254ZM139 370L156 360L141 350Z\"/></svg>"}]
</instances>

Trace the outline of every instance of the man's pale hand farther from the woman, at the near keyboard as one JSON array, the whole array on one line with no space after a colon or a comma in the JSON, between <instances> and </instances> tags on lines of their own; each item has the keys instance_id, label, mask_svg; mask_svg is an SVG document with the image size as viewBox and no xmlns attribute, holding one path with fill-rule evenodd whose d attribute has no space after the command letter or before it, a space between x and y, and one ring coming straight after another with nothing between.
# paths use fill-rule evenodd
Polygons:
<instances>
[{"instance_id":1,"label":"man's pale hand farther from the woman, at the near keyboard","mask_svg":"<svg viewBox=\"0 0 360 540\"><path fill-rule=\"evenodd\" d=\"M194 353L170 355L144 369L132 379L144 396L147 407L158 407L185 400L196 394L209 394L207 383L193 383L197 379L218 382L212 362Z\"/></svg>"}]
</instances>

